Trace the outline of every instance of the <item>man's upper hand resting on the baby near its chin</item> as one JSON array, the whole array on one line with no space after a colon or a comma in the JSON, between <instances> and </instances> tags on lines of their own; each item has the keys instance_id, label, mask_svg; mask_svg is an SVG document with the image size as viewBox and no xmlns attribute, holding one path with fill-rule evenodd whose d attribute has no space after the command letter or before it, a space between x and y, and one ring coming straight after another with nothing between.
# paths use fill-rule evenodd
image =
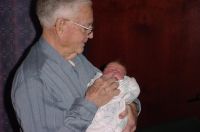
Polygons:
<instances>
[{"instance_id":1,"label":"man's upper hand resting on the baby near its chin","mask_svg":"<svg viewBox=\"0 0 200 132\"><path fill-rule=\"evenodd\" d=\"M103 75L94 81L86 92L86 99L95 103L97 107L108 103L120 93L119 83L112 75Z\"/></svg>"}]
</instances>

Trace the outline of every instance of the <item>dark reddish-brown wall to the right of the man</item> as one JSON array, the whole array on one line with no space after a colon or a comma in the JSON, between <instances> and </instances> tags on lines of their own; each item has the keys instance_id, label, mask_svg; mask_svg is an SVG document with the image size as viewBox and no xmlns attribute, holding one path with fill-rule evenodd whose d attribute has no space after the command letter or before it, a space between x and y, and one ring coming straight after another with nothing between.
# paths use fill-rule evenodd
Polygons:
<instances>
[{"instance_id":1,"label":"dark reddish-brown wall to the right of the man","mask_svg":"<svg viewBox=\"0 0 200 132\"><path fill-rule=\"evenodd\" d=\"M88 57L123 61L141 87L139 125L200 117L200 1L96 1Z\"/></svg>"}]
</instances>

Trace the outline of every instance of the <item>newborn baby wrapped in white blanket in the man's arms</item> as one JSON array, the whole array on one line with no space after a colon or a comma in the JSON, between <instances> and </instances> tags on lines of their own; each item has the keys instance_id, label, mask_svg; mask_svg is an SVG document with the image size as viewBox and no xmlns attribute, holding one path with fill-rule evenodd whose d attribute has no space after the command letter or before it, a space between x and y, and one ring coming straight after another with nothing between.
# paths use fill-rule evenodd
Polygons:
<instances>
[{"instance_id":1,"label":"newborn baby wrapped in white blanket in the man's arms","mask_svg":"<svg viewBox=\"0 0 200 132\"><path fill-rule=\"evenodd\" d=\"M102 74L112 74L118 80L120 94L97 110L86 132L122 132L128 118L120 119L119 114L125 110L126 104L138 97L139 86L133 77L126 76L126 69L119 62L109 63L103 73L97 73L88 86L91 86Z\"/></svg>"}]
</instances>

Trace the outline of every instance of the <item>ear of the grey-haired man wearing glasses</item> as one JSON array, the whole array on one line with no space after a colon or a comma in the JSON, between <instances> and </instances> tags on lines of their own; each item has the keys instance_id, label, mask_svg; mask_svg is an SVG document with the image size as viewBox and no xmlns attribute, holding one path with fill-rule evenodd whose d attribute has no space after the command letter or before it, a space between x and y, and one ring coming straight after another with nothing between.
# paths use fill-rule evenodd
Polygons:
<instances>
[{"instance_id":1,"label":"ear of the grey-haired man wearing glasses","mask_svg":"<svg viewBox=\"0 0 200 132\"><path fill-rule=\"evenodd\" d=\"M55 29L56 29L56 34L58 36L62 36L62 34L64 33L64 25L65 25L64 19L59 18L56 20Z\"/></svg>"}]
</instances>

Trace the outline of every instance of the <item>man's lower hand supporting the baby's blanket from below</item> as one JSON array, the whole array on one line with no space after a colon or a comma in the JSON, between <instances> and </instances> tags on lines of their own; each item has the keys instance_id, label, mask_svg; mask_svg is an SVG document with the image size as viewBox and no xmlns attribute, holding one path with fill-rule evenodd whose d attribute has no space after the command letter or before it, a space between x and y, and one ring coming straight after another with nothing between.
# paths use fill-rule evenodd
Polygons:
<instances>
[{"instance_id":1,"label":"man's lower hand supporting the baby's blanket from below","mask_svg":"<svg viewBox=\"0 0 200 132\"><path fill-rule=\"evenodd\" d=\"M128 122L123 132L134 132L137 126L138 116L135 104L131 103L129 105L126 105L126 110L119 115L119 118L123 119L126 116L128 116Z\"/></svg>"}]
</instances>

